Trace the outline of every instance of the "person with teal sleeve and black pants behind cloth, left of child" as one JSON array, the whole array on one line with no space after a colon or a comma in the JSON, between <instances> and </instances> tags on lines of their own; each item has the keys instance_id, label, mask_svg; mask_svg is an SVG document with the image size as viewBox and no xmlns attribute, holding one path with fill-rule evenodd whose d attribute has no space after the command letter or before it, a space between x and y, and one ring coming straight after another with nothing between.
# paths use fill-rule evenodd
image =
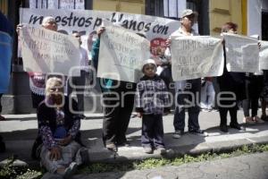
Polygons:
<instances>
[{"instance_id":1,"label":"person with teal sleeve and black pants behind cloth, left of child","mask_svg":"<svg viewBox=\"0 0 268 179\"><path fill-rule=\"evenodd\" d=\"M108 27L107 27L108 28ZM109 56L99 51L102 47L100 41L102 38L103 47L105 44L105 36L101 37L105 32L105 27L97 30L98 38L92 47L92 62L97 70L97 74L112 72L113 67L108 61L112 61L113 56ZM112 49L110 49L112 51ZM101 58L102 55L107 55ZM104 61L101 63L101 59ZM126 58L127 59L127 58ZM110 71L103 70L103 67L108 67ZM102 72L101 72L102 71ZM113 72L113 74L119 73ZM126 75L125 75L126 76ZM100 76L98 76L100 77ZM117 151L118 146L128 146L126 139L126 132L130 123L130 115L134 106L134 97L136 90L136 83L130 81L114 80L112 77L100 77L100 86L103 93L103 107L104 107L104 122L103 122L103 141L106 149Z\"/></svg>"}]
</instances>

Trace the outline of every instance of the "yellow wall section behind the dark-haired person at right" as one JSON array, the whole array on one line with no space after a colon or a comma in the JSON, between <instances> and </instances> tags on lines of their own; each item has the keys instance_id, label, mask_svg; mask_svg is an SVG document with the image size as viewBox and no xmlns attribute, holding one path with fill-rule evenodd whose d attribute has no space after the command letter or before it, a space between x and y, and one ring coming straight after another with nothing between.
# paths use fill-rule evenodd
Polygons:
<instances>
[{"instance_id":1,"label":"yellow wall section behind the dark-haired person at right","mask_svg":"<svg viewBox=\"0 0 268 179\"><path fill-rule=\"evenodd\" d=\"M239 33L247 35L247 0L210 0L209 4L211 35L219 35L228 21L237 23Z\"/></svg>"}]
</instances>

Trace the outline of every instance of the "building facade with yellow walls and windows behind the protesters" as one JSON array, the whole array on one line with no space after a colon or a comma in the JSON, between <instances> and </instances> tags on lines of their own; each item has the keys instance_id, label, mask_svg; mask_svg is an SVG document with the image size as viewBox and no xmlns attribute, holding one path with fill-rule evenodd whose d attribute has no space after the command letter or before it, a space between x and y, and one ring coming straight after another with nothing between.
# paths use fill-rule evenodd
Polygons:
<instances>
[{"instance_id":1,"label":"building facade with yellow walls and windows behind the protesters","mask_svg":"<svg viewBox=\"0 0 268 179\"><path fill-rule=\"evenodd\" d=\"M259 34L262 39L268 39L267 0L70 0L69 2L73 2L75 8L77 1L82 2L86 10L138 13L178 20L180 13L189 8L199 13L197 29L200 35L219 36L222 24L233 21L238 23L240 34ZM0 10L13 23L15 29L20 21L19 8L30 7L32 2L38 3L37 7L41 5L42 8L47 8L49 3L54 3L58 7L62 4L61 0L1 0ZM23 72L21 59L17 57L16 39L14 35L13 75L10 92L2 98L3 114L35 112L31 108L28 74Z\"/></svg>"}]
</instances>

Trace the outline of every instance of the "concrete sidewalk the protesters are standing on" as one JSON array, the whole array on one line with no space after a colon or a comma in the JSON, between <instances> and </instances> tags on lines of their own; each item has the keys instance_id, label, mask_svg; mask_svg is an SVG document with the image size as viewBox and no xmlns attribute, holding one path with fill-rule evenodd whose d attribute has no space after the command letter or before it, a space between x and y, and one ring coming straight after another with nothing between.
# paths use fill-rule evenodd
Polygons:
<instances>
[{"instance_id":1,"label":"concrete sidewalk the protesters are standing on","mask_svg":"<svg viewBox=\"0 0 268 179\"><path fill-rule=\"evenodd\" d=\"M0 132L4 137L6 152L0 154L0 161L12 155L18 156L18 165L37 165L30 158L30 149L37 136L36 115L4 115L7 120L0 122ZM144 158L160 158L159 154L145 154L140 145L141 120L138 117L130 119L128 140L130 147L121 147L117 153L104 148L102 136L102 115L86 114L87 119L81 122L83 142L88 146L92 162L119 162ZM243 114L239 111L239 123ZM208 132L207 137L186 133L180 139L172 139L173 115L163 116L164 141L168 152L165 157L174 158L182 154L200 154L204 152L222 152L254 143L268 143L268 123L244 125L245 130L230 129L223 133L218 129L220 118L218 112L201 112L199 123L201 129ZM188 120L186 120L187 122ZM187 123L186 123L187 126ZM185 129L187 131L187 127Z\"/></svg>"}]
</instances>

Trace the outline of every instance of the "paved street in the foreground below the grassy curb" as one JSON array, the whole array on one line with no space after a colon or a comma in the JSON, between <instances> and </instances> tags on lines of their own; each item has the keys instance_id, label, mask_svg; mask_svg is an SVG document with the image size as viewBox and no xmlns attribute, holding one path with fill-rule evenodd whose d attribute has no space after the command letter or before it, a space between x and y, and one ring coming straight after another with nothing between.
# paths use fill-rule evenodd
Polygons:
<instances>
[{"instance_id":1,"label":"paved street in the foreground below the grassy curb","mask_svg":"<svg viewBox=\"0 0 268 179\"><path fill-rule=\"evenodd\" d=\"M268 152L148 170L75 175L73 179L267 179Z\"/></svg>"}]
</instances>

